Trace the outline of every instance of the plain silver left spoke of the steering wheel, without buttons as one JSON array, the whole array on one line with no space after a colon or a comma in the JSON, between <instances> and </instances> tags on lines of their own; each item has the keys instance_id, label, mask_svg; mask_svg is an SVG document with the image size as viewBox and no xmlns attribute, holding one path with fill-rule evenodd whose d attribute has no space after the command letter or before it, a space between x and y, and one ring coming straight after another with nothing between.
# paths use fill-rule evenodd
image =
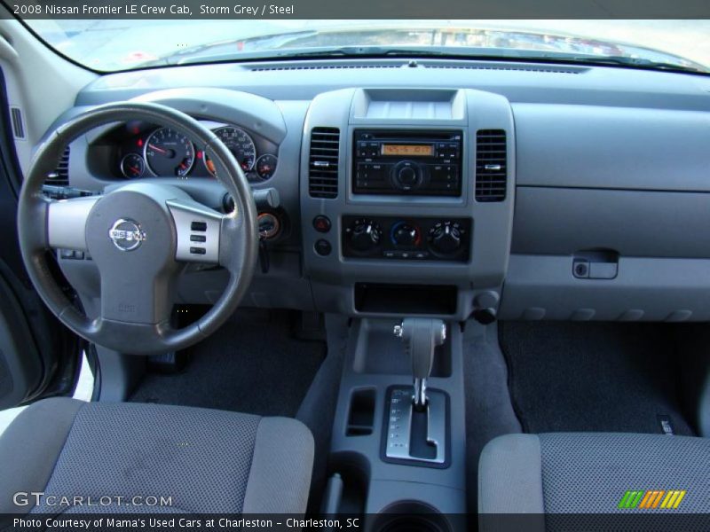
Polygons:
<instances>
[{"instance_id":1,"label":"plain silver left spoke of the steering wheel, without buttons","mask_svg":"<svg viewBox=\"0 0 710 532\"><path fill-rule=\"evenodd\" d=\"M46 246L86 251L86 222L99 196L47 203Z\"/></svg>"}]
</instances>

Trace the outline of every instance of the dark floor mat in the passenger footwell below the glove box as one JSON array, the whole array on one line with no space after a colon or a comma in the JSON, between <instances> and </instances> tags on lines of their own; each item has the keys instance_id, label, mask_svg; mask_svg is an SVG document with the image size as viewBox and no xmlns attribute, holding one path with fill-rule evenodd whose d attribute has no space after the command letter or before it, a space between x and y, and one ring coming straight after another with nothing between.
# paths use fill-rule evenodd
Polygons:
<instances>
[{"instance_id":1,"label":"dark floor mat in the passenger footwell below the glove box","mask_svg":"<svg viewBox=\"0 0 710 532\"><path fill-rule=\"evenodd\" d=\"M693 435L669 325L506 322L509 388L525 432Z\"/></svg>"}]
</instances>

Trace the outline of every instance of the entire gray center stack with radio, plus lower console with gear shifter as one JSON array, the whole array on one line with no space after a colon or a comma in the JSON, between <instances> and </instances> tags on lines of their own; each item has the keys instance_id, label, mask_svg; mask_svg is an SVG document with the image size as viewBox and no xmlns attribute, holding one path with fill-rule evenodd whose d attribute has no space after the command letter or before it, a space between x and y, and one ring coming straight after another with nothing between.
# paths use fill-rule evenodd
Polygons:
<instances>
[{"instance_id":1,"label":"entire gray center stack with radio, plus lower console with gear shifter","mask_svg":"<svg viewBox=\"0 0 710 532\"><path fill-rule=\"evenodd\" d=\"M463 528L453 522L467 510L459 323L498 309L514 138L508 100L485 91L313 99L304 278L316 308L350 324L324 512L375 516L371 530L415 528L414 513L434 529Z\"/></svg>"}]
</instances>

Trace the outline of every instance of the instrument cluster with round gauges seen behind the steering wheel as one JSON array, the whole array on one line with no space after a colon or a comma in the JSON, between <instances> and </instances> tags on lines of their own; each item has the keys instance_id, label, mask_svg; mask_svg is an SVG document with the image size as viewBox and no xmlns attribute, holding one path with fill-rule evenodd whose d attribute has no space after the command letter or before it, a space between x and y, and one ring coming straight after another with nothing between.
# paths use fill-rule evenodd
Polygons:
<instances>
[{"instance_id":1,"label":"instrument cluster with round gauges seen behind the steering wheel","mask_svg":"<svg viewBox=\"0 0 710 532\"><path fill-rule=\"evenodd\" d=\"M270 179L278 166L278 146L232 124L202 122L233 153L248 180ZM127 135L126 135L127 133ZM114 173L125 179L141 177L214 177L215 164L201 146L170 128L129 123L117 138Z\"/></svg>"}]
</instances>

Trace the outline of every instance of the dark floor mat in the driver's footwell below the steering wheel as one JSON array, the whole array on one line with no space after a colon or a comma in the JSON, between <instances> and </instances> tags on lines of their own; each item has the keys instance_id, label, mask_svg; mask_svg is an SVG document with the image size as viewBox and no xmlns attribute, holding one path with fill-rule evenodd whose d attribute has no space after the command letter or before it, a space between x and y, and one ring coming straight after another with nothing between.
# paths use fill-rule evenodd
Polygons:
<instances>
[{"instance_id":1,"label":"dark floor mat in the driver's footwell below the steering wheel","mask_svg":"<svg viewBox=\"0 0 710 532\"><path fill-rule=\"evenodd\" d=\"M146 374L130 401L296 416L326 345L296 340L290 316L286 311L240 310L188 350L185 371Z\"/></svg>"}]
</instances>

